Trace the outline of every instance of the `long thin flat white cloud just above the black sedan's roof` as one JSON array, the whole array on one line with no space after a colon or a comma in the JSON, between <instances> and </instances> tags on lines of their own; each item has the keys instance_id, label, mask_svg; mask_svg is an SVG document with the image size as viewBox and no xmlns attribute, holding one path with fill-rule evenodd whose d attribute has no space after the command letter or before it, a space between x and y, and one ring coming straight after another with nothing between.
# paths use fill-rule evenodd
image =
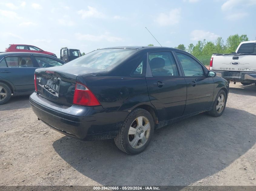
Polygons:
<instances>
[{"instance_id":1,"label":"long thin flat white cloud just above the black sedan's roof","mask_svg":"<svg viewBox=\"0 0 256 191\"><path fill-rule=\"evenodd\" d=\"M120 42L123 41L122 38L120 37L113 37L109 36L108 34L101 34L101 35L91 35L91 34L81 34L81 33L75 33L75 36L78 40L87 40L87 41L92 41L92 42L99 42L102 40L108 41L108 42Z\"/></svg>"}]
</instances>

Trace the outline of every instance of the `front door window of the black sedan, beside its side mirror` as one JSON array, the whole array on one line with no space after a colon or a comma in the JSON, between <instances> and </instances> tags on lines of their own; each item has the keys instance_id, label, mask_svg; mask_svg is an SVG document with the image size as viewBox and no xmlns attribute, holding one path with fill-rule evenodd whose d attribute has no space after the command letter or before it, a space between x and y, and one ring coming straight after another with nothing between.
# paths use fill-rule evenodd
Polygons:
<instances>
[{"instance_id":1,"label":"front door window of the black sedan, beside its side mirror","mask_svg":"<svg viewBox=\"0 0 256 191\"><path fill-rule=\"evenodd\" d=\"M182 53L176 53L179 61L181 62L184 75L189 76L204 76L202 66L188 55Z\"/></svg>"}]
</instances>

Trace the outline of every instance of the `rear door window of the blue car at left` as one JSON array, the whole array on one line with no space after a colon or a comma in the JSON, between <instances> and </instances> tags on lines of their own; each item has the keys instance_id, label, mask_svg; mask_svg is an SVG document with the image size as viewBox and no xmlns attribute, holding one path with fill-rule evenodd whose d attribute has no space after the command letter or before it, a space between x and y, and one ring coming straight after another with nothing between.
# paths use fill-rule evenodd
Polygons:
<instances>
[{"instance_id":1,"label":"rear door window of the blue car at left","mask_svg":"<svg viewBox=\"0 0 256 191\"><path fill-rule=\"evenodd\" d=\"M9 56L5 58L8 67L33 68L33 62L29 56Z\"/></svg>"}]
</instances>

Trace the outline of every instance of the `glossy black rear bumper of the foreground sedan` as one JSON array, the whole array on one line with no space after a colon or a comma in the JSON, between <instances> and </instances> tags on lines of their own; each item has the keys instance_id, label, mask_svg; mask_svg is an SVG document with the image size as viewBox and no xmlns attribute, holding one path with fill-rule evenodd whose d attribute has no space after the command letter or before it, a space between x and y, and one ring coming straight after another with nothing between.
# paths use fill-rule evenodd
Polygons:
<instances>
[{"instance_id":1,"label":"glossy black rear bumper of the foreground sedan","mask_svg":"<svg viewBox=\"0 0 256 191\"><path fill-rule=\"evenodd\" d=\"M52 129L80 140L114 138L127 114L105 112L102 106L67 107L53 103L36 92L30 95L29 101L38 119Z\"/></svg>"}]
</instances>

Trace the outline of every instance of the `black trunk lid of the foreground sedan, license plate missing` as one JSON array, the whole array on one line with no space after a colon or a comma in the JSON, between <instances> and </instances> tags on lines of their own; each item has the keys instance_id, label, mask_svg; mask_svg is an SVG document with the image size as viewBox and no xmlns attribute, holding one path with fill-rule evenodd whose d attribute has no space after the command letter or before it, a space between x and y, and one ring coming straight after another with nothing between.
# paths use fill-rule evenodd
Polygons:
<instances>
[{"instance_id":1,"label":"black trunk lid of the foreground sedan, license plate missing","mask_svg":"<svg viewBox=\"0 0 256 191\"><path fill-rule=\"evenodd\" d=\"M35 84L38 94L48 100L65 106L73 104L77 76L98 76L101 70L92 68L65 67L65 65L36 69ZM79 81L78 81L79 82Z\"/></svg>"}]
</instances>

